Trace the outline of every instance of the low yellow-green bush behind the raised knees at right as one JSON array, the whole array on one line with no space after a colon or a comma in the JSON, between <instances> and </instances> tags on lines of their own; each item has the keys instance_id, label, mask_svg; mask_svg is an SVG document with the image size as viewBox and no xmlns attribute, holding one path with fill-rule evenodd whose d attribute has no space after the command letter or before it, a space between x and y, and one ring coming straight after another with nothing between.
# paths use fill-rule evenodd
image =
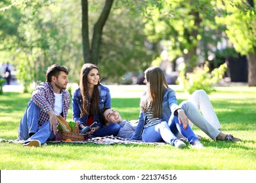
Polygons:
<instances>
[{"instance_id":1,"label":"low yellow-green bush behind the raised knees at right","mask_svg":"<svg viewBox=\"0 0 256 183\"><path fill-rule=\"evenodd\" d=\"M215 92L213 84L219 82L226 71L226 63L219 68L213 69L209 73L209 67L207 63L202 67L196 67L192 73L184 73L182 69L179 74L178 82L182 86L185 92L193 93L195 90L203 89L206 93Z\"/></svg>"}]
</instances>

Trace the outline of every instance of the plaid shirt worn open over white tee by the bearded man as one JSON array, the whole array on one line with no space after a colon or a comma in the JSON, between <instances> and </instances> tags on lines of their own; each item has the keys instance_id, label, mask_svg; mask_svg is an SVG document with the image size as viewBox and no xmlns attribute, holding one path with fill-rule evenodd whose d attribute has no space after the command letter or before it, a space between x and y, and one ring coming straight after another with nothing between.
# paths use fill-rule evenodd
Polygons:
<instances>
[{"instance_id":1,"label":"plaid shirt worn open over white tee by the bearded man","mask_svg":"<svg viewBox=\"0 0 256 183\"><path fill-rule=\"evenodd\" d=\"M54 111L55 97L51 84L49 82L41 82L32 93L32 100L39 108L41 108L39 116L39 126L45 122L49 122L49 110ZM70 108L70 93L67 90L62 90L62 103L63 110L62 116L64 119L67 117L68 108Z\"/></svg>"}]
</instances>

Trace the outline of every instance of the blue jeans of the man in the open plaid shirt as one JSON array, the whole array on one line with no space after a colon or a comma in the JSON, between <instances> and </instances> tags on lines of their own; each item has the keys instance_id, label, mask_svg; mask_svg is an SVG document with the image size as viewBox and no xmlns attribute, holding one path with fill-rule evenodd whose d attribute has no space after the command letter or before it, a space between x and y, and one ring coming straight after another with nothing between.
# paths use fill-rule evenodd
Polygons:
<instances>
[{"instance_id":1,"label":"blue jeans of the man in the open plaid shirt","mask_svg":"<svg viewBox=\"0 0 256 183\"><path fill-rule=\"evenodd\" d=\"M50 122L45 122L40 127L38 126L40 111L41 108L30 99L18 127L18 137L20 140L25 140L26 142L38 140L41 144L44 144L46 141L51 141L55 138L53 131L50 129ZM30 137L30 133L35 134Z\"/></svg>"}]
</instances>

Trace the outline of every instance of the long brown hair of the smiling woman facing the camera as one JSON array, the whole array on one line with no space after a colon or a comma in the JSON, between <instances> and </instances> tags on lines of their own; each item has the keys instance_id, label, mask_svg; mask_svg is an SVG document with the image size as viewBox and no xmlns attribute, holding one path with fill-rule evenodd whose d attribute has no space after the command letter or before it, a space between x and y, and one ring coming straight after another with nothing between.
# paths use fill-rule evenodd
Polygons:
<instances>
[{"instance_id":1,"label":"long brown hair of the smiling woman facing the camera","mask_svg":"<svg viewBox=\"0 0 256 183\"><path fill-rule=\"evenodd\" d=\"M85 63L81 69L81 73L80 73L80 90L81 90L81 117L84 115L88 115L88 114L98 114L98 102L99 102L99 91L98 91L98 86L100 85L100 80L98 80L98 84L94 87L93 89L93 96L90 99L90 103L91 103L91 108L88 111L88 107L89 107L89 92L88 92L88 79L87 76L89 74L89 72L91 71L91 69L97 69L98 67L92 63Z\"/></svg>"}]
</instances>

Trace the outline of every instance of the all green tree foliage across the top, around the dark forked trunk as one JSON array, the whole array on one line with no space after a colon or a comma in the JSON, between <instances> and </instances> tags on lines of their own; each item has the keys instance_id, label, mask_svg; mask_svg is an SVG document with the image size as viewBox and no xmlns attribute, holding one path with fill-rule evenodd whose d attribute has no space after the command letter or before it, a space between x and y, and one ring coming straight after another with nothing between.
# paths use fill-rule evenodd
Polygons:
<instances>
[{"instance_id":1,"label":"all green tree foliage across the top, around the dark forked trunk","mask_svg":"<svg viewBox=\"0 0 256 183\"><path fill-rule=\"evenodd\" d=\"M91 38L104 1L90 2L88 37ZM157 57L162 48L168 51L169 61L183 56L189 66L198 61L198 53L205 61L214 54L217 42L226 39L226 34L236 51L254 52L255 7L244 1L114 3L116 6L102 32L98 62L100 75L111 82L119 83L125 73L143 71L152 61L159 63ZM5 0L0 7L0 62L8 60L21 68L25 66L19 66L20 63L25 61L29 69L24 70L32 77L30 82L44 80L46 68L58 63L70 70L70 82L78 82L77 73L83 64L81 2ZM20 80L29 85L25 75L21 74Z\"/></svg>"}]
</instances>

